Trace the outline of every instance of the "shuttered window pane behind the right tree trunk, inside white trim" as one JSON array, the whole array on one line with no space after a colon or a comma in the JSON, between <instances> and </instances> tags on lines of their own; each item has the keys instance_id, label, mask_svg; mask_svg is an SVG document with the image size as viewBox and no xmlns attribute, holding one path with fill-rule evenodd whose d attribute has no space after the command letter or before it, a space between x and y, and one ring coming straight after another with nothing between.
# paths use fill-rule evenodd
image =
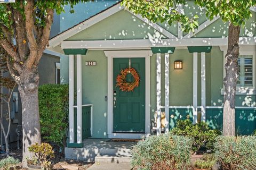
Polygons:
<instances>
[{"instance_id":1,"label":"shuttered window pane behind the right tree trunk, inside white trim","mask_svg":"<svg viewBox=\"0 0 256 170\"><path fill-rule=\"evenodd\" d=\"M253 86L252 55L241 55L238 58L238 81L237 86Z\"/></svg>"}]
</instances>

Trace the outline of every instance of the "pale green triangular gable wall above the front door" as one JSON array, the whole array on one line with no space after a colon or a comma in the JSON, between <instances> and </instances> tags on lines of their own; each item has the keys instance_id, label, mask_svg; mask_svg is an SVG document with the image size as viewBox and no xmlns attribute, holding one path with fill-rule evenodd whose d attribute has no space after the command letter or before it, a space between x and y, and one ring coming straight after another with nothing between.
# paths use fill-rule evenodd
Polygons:
<instances>
[{"instance_id":1,"label":"pale green triangular gable wall above the front door","mask_svg":"<svg viewBox=\"0 0 256 170\"><path fill-rule=\"evenodd\" d=\"M96 33L97 32L97 33ZM67 40L165 38L154 28L128 11L121 10Z\"/></svg>"}]
</instances>

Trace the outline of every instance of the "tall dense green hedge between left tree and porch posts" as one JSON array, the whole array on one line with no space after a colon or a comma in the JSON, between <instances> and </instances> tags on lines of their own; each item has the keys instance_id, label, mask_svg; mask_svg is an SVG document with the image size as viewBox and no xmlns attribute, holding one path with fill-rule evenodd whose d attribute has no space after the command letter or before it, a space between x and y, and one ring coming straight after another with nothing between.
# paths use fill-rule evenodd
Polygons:
<instances>
[{"instance_id":1,"label":"tall dense green hedge between left tree and porch posts","mask_svg":"<svg viewBox=\"0 0 256 170\"><path fill-rule=\"evenodd\" d=\"M68 128L68 85L45 84L39 87L38 94L42 137L47 142L65 145Z\"/></svg>"}]
</instances>

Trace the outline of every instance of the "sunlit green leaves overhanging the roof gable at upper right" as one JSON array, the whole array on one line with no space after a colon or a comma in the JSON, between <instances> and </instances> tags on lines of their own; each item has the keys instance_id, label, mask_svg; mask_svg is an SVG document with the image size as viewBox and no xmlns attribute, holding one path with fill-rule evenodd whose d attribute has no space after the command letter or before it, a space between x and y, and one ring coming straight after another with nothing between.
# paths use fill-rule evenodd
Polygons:
<instances>
[{"instance_id":1,"label":"sunlit green leaves overhanging the roof gable at upper right","mask_svg":"<svg viewBox=\"0 0 256 170\"><path fill-rule=\"evenodd\" d=\"M186 4L186 0L124 0L122 3L128 10L135 14L141 14L151 22L164 22L170 25L178 21L184 32L194 32L198 28L198 16L194 15L189 18L181 11L178 6ZM249 8L255 6L255 0L195 0L195 4L206 11L206 16L210 20L214 16L220 15L221 19L226 22L230 21L235 26L245 24L252 14Z\"/></svg>"}]
</instances>

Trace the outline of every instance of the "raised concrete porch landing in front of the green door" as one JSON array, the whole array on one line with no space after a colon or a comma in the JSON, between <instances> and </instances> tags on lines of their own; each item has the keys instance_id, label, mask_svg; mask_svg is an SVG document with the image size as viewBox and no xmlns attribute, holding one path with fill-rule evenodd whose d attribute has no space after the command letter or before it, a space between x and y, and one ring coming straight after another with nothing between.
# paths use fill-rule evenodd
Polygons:
<instances>
[{"instance_id":1,"label":"raised concrete porch landing in front of the green door","mask_svg":"<svg viewBox=\"0 0 256 170\"><path fill-rule=\"evenodd\" d=\"M83 143L83 148L65 148L65 158L95 162L97 156L130 157L131 148L137 142L85 139Z\"/></svg>"}]
</instances>

